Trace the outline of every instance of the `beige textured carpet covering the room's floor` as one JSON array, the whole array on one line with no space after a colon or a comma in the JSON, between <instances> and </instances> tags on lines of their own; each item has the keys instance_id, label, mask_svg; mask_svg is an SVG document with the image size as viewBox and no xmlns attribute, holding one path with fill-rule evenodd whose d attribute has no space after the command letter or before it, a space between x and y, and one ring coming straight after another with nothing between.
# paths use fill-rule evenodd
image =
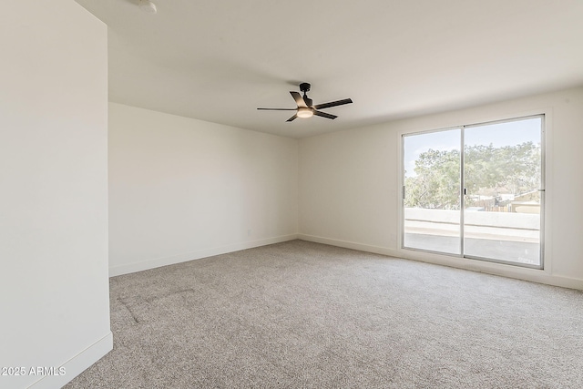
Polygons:
<instances>
[{"instance_id":1,"label":"beige textured carpet covering the room's floor","mask_svg":"<svg viewBox=\"0 0 583 389\"><path fill-rule=\"evenodd\" d=\"M68 388L581 388L583 292L289 241L112 278Z\"/></svg>"}]
</instances>

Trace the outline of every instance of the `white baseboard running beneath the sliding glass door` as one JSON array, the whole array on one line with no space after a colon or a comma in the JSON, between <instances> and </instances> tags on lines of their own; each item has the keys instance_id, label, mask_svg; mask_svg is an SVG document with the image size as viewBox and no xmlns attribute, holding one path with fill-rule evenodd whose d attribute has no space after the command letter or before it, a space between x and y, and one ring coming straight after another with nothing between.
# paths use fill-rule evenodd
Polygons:
<instances>
[{"instance_id":1,"label":"white baseboard running beneath the sliding glass door","mask_svg":"<svg viewBox=\"0 0 583 389\"><path fill-rule=\"evenodd\" d=\"M552 274L548 271L527 269L518 266L501 263L476 261L426 253L422 251L394 250L386 247L372 246L353 241L340 241L321 236L298 234L298 239L302 241L313 241L316 243L329 244L331 246L343 247L358 251L373 252L375 254L387 255L390 257L403 258L405 260L423 261L436 265L449 266L468 271L478 271L502 277L515 278L530 282L546 283L547 285L560 286L563 288L583 290L583 280L570 278L563 275Z\"/></svg>"}]
</instances>

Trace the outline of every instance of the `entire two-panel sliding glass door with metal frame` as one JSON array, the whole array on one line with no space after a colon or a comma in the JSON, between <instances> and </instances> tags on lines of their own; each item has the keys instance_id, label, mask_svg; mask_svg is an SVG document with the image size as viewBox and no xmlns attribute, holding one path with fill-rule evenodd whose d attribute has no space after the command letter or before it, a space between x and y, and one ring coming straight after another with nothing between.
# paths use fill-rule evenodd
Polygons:
<instances>
[{"instance_id":1,"label":"entire two-panel sliding glass door with metal frame","mask_svg":"<svg viewBox=\"0 0 583 389\"><path fill-rule=\"evenodd\" d=\"M543 118L405 135L403 247L542 268Z\"/></svg>"}]
</instances>

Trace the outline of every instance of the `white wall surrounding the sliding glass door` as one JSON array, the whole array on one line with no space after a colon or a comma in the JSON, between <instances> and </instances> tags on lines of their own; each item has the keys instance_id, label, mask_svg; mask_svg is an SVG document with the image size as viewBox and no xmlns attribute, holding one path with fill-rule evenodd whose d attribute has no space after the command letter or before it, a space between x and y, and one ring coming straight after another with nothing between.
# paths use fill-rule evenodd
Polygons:
<instances>
[{"instance_id":1,"label":"white wall surrounding the sliding glass door","mask_svg":"<svg viewBox=\"0 0 583 389\"><path fill-rule=\"evenodd\" d=\"M399 247L401 135L547 114L545 270ZM583 289L583 88L300 140L300 238Z\"/></svg>"}]
</instances>

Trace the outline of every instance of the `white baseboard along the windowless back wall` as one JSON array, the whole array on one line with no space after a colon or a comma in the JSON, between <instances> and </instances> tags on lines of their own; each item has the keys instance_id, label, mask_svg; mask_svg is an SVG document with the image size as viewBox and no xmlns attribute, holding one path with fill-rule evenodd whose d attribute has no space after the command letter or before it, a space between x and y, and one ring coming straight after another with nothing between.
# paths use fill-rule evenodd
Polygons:
<instances>
[{"instance_id":1,"label":"white baseboard along the windowless back wall","mask_svg":"<svg viewBox=\"0 0 583 389\"><path fill-rule=\"evenodd\" d=\"M281 235L272 238L265 238L258 241L242 241L227 246L213 247L200 251L188 252L186 254L173 255L171 257L156 258L153 260L139 261L129 263L126 265L118 265L109 267L109 277L117 275L128 274L136 271L147 271L149 269L159 268L160 266L173 265L175 263L199 260L201 258L211 257L213 255L226 254L228 252L252 249L254 247L265 246L273 243L281 243L282 241L293 241L298 239L297 234Z\"/></svg>"}]
</instances>

